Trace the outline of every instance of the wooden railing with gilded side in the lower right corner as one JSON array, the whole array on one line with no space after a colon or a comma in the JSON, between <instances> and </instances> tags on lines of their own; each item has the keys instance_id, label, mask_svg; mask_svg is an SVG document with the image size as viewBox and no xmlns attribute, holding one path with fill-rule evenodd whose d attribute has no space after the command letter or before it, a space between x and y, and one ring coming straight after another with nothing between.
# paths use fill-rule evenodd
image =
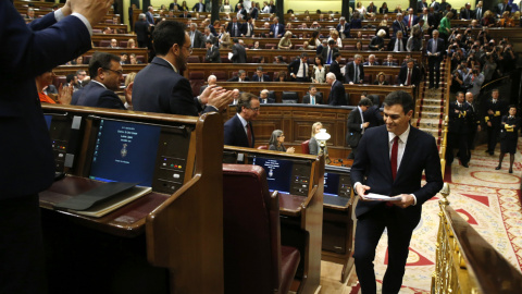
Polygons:
<instances>
[{"instance_id":1,"label":"wooden railing with gilded side in the lower right corner","mask_svg":"<svg viewBox=\"0 0 522 294\"><path fill-rule=\"evenodd\" d=\"M449 206L448 184L440 194L432 293L520 293L522 273Z\"/></svg>"}]
</instances>

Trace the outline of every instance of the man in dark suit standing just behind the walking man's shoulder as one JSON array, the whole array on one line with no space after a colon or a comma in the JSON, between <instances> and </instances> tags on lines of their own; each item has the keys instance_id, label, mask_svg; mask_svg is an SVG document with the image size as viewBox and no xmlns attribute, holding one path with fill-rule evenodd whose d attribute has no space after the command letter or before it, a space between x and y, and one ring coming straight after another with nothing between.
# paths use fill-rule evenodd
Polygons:
<instances>
[{"instance_id":1,"label":"man in dark suit standing just behind the walking man's shoulder","mask_svg":"<svg viewBox=\"0 0 522 294\"><path fill-rule=\"evenodd\" d=\"M362 98L357 108L348 114L348 121L346 123L346 128L348 130L348 133L346 133L346 144L351 147L351 152L348 156L348 159L356 158L359 140L361 140L364 130L370 126L370 123L364 121L363 114L370 107L372 107L372 105L373 103L370 99Z\"/></svg>"}]
</instances>

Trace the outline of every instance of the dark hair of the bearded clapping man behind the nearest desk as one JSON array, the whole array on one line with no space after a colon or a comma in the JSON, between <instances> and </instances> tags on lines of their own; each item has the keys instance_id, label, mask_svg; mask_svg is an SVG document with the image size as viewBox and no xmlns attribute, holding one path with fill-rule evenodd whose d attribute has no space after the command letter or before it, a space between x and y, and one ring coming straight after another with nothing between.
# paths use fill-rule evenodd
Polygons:
<instances>
[{"instance_id":1,"label":"dark hair of the bearded clapping man behind the nearest desk","mask_svg":"<svg viewBox=\"0 0 522 294\"><path fill-rule=\"evenodd\" d=\"M184 23L176 21L164 21L158 24L152 33L156 53L166 56L174 44L183 47L185 45L186 27Z\"/></svg>"}]
</instances>

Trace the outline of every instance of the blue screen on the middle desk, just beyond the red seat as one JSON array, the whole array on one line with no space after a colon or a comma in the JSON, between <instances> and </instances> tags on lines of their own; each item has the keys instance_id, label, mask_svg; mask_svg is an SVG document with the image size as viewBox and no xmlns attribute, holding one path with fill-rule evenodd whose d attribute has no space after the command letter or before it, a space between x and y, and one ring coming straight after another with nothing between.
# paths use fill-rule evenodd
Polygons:
<instances>
[{"instance_id":1,"label":"blue screen on the middle desk, just beyond the red seat","mask_svg":"<svg viewBox=\"0 0 522 294\"><path fill-rule=\"evenodd\" d=\"M290 192L291 169L294 167L291 161L253 157L252 164L264 169L270 191Z\"/></svg>"}]
</instances>

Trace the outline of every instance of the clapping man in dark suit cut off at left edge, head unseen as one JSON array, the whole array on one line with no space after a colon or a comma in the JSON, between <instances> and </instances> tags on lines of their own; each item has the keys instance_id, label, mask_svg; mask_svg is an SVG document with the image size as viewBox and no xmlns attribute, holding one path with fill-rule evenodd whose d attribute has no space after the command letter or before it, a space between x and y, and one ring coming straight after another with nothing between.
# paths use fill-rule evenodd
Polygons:
<instances>
[{"instance_id":1,"label":"clapping man in dark suit cut off at left edge, head unseen","mask_svg":"<svg viewBox=\"0 0 522 294\"><path fill-rule=\"evenodd\" d=\"M54 160L35 77L89 50L91 24L112 2L69 0L26 25L0 1L0 293L47 292L38 193L52 184Z\"/></svg>"}]
</instances>

